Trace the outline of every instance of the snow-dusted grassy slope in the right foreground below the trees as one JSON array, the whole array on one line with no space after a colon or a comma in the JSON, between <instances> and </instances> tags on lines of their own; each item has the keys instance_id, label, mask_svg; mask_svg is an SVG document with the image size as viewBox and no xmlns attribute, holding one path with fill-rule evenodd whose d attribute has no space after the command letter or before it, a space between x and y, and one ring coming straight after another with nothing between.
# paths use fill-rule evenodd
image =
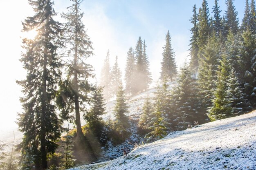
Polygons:
<instances>
[{"instance_id":1,"label":"snow-dusted grassy slope in the right foreground below the trees","mask_svg":"<svg viewBox=\"0 0 256 170\"><path fill-rule=\"evenodd\" d=\"M173 132L115 160L72 170L256 170L256 111Z\"/></svg>"}]
</instances>

